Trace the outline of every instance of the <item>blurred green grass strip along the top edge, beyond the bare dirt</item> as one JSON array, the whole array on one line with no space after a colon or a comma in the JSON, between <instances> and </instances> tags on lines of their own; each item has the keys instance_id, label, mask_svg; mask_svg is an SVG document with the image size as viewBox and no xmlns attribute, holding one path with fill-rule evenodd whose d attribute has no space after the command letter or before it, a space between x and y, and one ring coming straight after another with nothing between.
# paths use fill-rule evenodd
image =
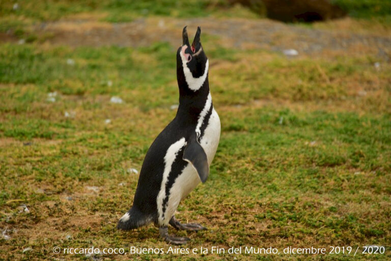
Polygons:
<instances>
[{"instance_id":1,"label":"blurred green grass strip along the top edge, beyond the bare dirt","mask_svg":"<svg viewBox=\"0 0 391 261\"><path fill-rule=\"evenodd\" d=\"M333 0L350 16L355 18L383 17L389 22L391 4L387 0ZM205 16L225 16L225 17L265 17L263 5L254 5L255 12L248 8L232 6L224 1L217 0L189 0L189 1L132 1L132 0L82 0L74 2L72 0L21 0L18 1L17 8L14 9L12 1L0 2L0 31L8 29L18 29L20 23L34 23L47 20L58 20L69 15L79 13L104 14L103 20L109 22L127 22L135 18L151 15L170 17L205 17ZM17 24L15 24L17 23Z\"/></svg>"}]
</instances>

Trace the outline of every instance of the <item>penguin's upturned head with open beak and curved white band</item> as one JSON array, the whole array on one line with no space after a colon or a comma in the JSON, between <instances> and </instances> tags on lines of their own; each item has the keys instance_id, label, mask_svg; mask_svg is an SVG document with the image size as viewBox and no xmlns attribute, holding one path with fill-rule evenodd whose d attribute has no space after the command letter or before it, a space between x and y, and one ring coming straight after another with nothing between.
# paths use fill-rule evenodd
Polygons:
<instances>
[{"instance_id":1,"label":"penguin's upturned head with open beak and curved white band","mask_svg":"<svg viewBox=\"0 0 391 261\"><path fill-rule=\"evenodd\" d=\"M177 51L178 82L181 86L185 81L190 90L198 91L206 81L209 62L200 42L201 28L198 27L193 43L190 45L186 27L182 32L183 43Z\"/></svg>"}]
</instances>

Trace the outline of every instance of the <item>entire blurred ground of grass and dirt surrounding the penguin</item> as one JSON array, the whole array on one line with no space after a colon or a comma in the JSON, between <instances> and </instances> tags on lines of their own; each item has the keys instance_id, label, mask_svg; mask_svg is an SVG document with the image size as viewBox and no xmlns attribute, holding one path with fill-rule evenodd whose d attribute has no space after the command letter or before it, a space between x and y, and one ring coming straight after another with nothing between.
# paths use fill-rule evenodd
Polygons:
<instances>
[{"instance_id":1,"label":"entire blurred ground of grass and dirt surrounding the penguin","mask_svg":"<svg viewBox=\"0 0 391 261\"><path fill-rule=\"evenodd\" d=\"M391 1L0 0L0 257L166 247L115 226L175 117L184 25L222 124L190 247L389 243Z\"/></svg>"}]
</instances>

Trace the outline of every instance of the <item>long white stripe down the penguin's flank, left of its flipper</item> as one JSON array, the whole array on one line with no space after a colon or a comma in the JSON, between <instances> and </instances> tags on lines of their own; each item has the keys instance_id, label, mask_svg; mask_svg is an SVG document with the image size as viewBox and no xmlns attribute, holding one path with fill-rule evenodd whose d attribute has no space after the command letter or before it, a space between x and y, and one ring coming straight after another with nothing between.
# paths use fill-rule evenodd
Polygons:
<instances>
[{"instance_id":1,"label":"long white stripe down the penguin's flank, left of its flipper","mask_svg":"<svg viewBox=\"0 0 391 261\"><path fill-rule=\"evenodd\" d=\"M165 153L164 156L164 171L163 171L163 179L161 180L161 185L160 185L160 191L159 194L157 195L156 203L157 203L157 211L159 213L159 221L162 220L163 218L163 200L165 198L165 186L167 182L169 181L169 175L171 172L172 165L177 158L177 154L179 150L183 146L186 145L186 140L185 138L182 138L178 140L177 142L171 144L169 149L167 149L167 152ZM167 218L167 217L165 217ZM171 218L171 217L169 217Z\"/></svg>"}]
</instances>

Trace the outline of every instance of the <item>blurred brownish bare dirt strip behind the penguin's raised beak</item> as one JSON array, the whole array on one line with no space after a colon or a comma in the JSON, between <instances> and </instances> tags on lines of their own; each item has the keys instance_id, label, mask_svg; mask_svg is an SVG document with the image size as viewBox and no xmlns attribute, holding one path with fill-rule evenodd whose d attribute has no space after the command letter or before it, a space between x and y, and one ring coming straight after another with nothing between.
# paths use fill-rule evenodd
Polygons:
<instances>
[{"instance_id":1,"label":"blurred brownish bare dirt strip behind the penguin's raised beak","mask_svg":"<svg viewBox=\"0 0 391 261\"><path fill-rule=\"evenodd\" d=\"M352 33L343 30L345 23L350 24L350 19L334 22L339 24L340 30L335 30L337 25L334 26L334 30L327 30L268 19L151 17L139 18L127 23L108 23L91 19L60 20L41 23L31 30L37 35L51 35L45 41L55 45L138 47L159 41L178 46L181 44L181 31L184 25L188 25L190 35L200 25L204 34L218 37L219 44L227 48L263 48L272 51L293 48L299 54L324 53L326 56L330 51L343 53L370 51L389 60L391 37L390 34L384 34L384 30L386 32L389 30ZM0 35L0 41L13 42L16 38ZM357 46L360 48L357 49Z\"/></svg>"}]
</instances>

